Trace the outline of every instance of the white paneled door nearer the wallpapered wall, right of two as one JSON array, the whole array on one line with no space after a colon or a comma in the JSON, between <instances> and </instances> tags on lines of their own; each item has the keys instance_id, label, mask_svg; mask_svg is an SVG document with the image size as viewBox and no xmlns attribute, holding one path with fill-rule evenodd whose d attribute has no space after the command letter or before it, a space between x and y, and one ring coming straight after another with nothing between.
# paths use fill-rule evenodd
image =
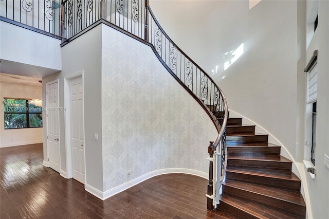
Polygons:
<instances>
[{"instance_id":1,"label":"white paneled door nearer the wallpapered wall, right of two","mask_svg":"<svg viewBox=\"0 0 329 219\"><path fill-rule=\"evenodd\" d=\"M83 84L82 77L71 79L70 86L70 134L72 152L72 176L85 183Z\"/></svg>"}]
</instances>

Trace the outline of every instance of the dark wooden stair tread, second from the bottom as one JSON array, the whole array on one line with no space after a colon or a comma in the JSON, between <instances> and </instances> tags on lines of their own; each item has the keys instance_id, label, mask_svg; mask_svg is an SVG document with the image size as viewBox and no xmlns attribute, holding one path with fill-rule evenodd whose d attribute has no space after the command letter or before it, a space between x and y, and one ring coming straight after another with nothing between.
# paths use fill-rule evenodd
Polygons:
<instances>
[{"instance_id":1,"label":"dark wooden stair tread, second from the bottom","mask_svg":"<svg viewBox=\"0 0 329 219\"><path fill-rule=\"evenodd\" d=\"M305 207L303 196L301 195L300 192L297 191L289 191L285 189L273 188L269 186L252 184L249 182L228 180L228 179L224 182L223 185L237 188L240 190L245 190L255 194L260 194L267 197L283 200L284 202L294 203L296 205Z\"/></svg>"}]
</instances>

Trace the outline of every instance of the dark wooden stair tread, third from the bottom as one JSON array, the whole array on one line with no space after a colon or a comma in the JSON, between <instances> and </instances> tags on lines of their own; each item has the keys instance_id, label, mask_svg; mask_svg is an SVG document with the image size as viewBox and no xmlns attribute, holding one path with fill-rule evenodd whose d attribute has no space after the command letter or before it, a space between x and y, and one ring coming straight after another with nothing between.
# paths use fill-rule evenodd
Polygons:
<instances>
[{"instance_id":1,"label":"dark wooden stair tread, third from the bottom","mask_svg":"<svg viewBox=\"0 0 329 219\"><path fill-rule=\"evenodd\" d=\"M254 169L243 167L227 167L227 172L242 173L248 175L257 175L271 178L299 181L300 179L291 171L271 170L271 169Z\"/></svg>"}]
</instances>

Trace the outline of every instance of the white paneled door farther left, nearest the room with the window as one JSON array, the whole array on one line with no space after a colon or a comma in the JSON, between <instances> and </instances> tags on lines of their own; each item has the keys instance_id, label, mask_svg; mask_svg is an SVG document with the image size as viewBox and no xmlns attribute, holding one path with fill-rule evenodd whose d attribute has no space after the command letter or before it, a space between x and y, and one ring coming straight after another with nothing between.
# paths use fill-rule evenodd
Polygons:
<instances>
[{"instance_id":1,"label":"white paneled door farther left, nearest the room with the window","mask_svg":"<svg viewBox=\"0 0 329 219\"><path fill-rule=\"evenodd\" d=\"M47 84L46 97L49 167L60 172L58 82Z\"/></svg>"}]
</instances>

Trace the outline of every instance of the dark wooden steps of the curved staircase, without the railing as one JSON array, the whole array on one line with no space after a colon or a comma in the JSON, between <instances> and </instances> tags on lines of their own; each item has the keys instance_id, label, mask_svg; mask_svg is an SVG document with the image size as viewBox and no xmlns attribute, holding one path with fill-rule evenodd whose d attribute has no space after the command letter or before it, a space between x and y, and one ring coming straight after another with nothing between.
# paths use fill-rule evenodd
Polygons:
<instances>
[{"instance_id":1,"label":"dark wooden steps of the curved staircase, without the railing","mask_svg":"<svg viewBox=\"0 0 329 219\"><path fill-rule=\"evenodd\" d=\"M239 218L305 218L301 181L268 135L228 118L226 181L217 207Z\"/></svg>"}]
</instances>

